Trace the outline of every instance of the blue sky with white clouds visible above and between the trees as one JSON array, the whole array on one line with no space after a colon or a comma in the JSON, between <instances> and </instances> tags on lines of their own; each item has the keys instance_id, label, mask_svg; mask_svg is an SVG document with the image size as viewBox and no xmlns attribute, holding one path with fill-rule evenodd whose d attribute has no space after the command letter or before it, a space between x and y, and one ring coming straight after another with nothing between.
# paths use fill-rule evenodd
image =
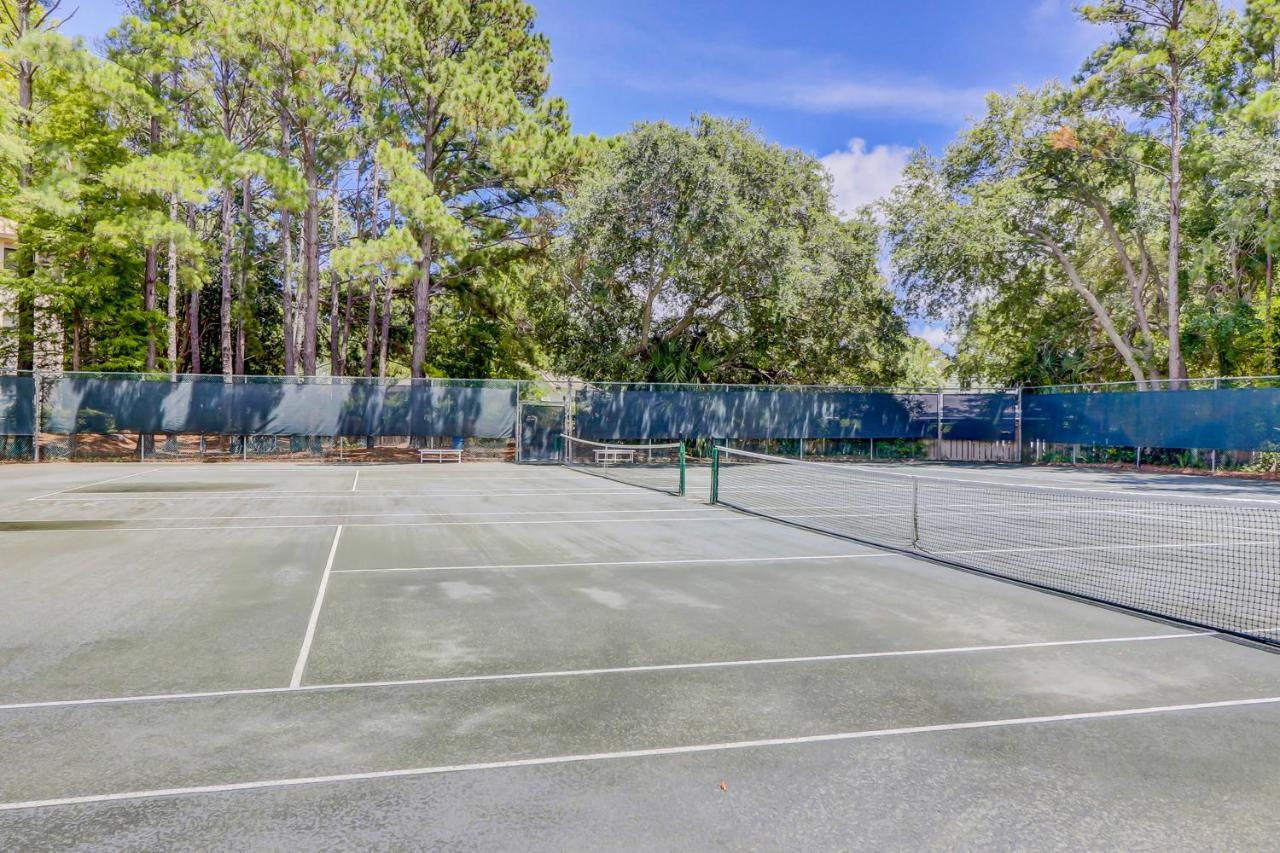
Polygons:
<instances>
[{"instance_id":1,"label":"blue sky with white clouds visible above and between the trees","mask_svg":"<svg viewBox=\"0 0 1280 853\"><path fill-rule=\"evenodd\" d=\"M823 158L842 209L892 187L908 154L941 149L983 95L1070 77L1105 31L1073 0L534 0L552 85L579 131L744 117ZM79 6L67 32L100 37L122 14ZM916 332L941 342L942 332Z\"/></svg>"}]
</instances>

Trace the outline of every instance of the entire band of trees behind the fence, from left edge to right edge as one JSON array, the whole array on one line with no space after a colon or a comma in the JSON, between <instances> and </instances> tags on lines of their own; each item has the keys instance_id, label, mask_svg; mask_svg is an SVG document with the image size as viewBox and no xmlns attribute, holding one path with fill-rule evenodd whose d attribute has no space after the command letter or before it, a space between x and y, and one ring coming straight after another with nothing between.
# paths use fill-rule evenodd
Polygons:
<instances>
[{"instance_id":1,"label":"entire band of trees behind the fence, from left edge to right edge","mask_svg":"<svg viewBox=\"0 0 1280 853\"><path fill-rule=\"evenodd\" d=\"M0 364L1050 384L1275 373L1280 0L1103 0L883 202L745 122L575 133L525 0L0 0ZM883 272L882 272L883 270ZM888 280L886 280L886 274ZM4 310L4 309L0 309ZM906 333L950 324L943 357ZM58 330L51 333L50 329Z\"/></svg>"}]
</instances>

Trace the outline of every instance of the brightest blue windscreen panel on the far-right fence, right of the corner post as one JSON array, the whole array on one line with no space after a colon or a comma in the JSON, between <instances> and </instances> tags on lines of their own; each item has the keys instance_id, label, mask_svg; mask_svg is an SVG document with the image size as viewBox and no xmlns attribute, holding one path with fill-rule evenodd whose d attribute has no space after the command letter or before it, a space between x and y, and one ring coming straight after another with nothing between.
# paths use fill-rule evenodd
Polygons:
<instances>
[{"instance_id":1,"label":"brightest blue windscreen panel on the far-right fence, right of the corner post","mask_svg":"<svg viewBox=\"0 0 1280 853\"><path fill-rule=\"evenodd\" d=\"M1267 450L1280 447L1280 388L1025 394L1023 437L1062 444Z\"/></svg>"}]
</instances>

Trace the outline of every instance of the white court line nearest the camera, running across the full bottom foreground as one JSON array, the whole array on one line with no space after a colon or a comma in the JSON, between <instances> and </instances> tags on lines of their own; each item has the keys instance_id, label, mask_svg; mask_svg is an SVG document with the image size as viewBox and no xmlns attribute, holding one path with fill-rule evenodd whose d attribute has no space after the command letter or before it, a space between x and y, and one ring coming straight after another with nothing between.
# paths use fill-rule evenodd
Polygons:
<instances>
[{"instance_id":1,"label":"white court line nearest the camera, running across the full bottom foreground","mask_svg":"<svg viewBox=\"0 0 1280 853\"><path fill-rule=\"evenodd\" d=\"M1043 725L1050 722L1080 722L1085 720L1117 720L1123 717L1155 716L1157 713L1180 713L1187 711L1208 711L1216 708L1240 708L1248 706L1276 704L1280 697L1260 697L1253 699L1226 699L1222 702L1194 702L1188 704L1162 704L1144 708L1117 708L1114 711L1084 711L1079 713L1051 713L1038 717L1011 717L1005 720L975 720L970 722L940 722L923 726L900 726L896 729L864 729L860 731L838 731L835 734L800 735L795 738L762 738L759 740L727 740L722 743L690 744L684 747L653 747L649 749L621 749L617 752L588 752L568 756L544 756L536 758L508 758L470 765L438 765L434 767L406 767L402 770L374 770L356 774L334 774L329 776L296 776L292 779L264 779L248 783L229 783L224 785L192 785L189 788L157 788L152 790L131 790L115 794L88 794L86 797L61 797L58 799L32 799L15 803L0 803L0 811L26 808L47 808L52 806L79 806L86 803L108 803L131 799L152 799L156 797L179 797L195 794L224 794L241 790L262 790L271 788L296 788L298 785L317 785L348 781L370 781L376 779L403 779L413 776L436 776L442 774L474 772L480 770L509 770L515 767L545 767L550 765L585 763L591 761L618 761L625 758L654 758L660 756L687 756L700 752L728 752L733 749L758 749L765 747L790 747L810 743L835 743L840 740L865 740L869 738L892 738L914 734L934 734L943 731L968 731L974 729L1007 729L1014 726Z\"/></svg>"}]
</instances>

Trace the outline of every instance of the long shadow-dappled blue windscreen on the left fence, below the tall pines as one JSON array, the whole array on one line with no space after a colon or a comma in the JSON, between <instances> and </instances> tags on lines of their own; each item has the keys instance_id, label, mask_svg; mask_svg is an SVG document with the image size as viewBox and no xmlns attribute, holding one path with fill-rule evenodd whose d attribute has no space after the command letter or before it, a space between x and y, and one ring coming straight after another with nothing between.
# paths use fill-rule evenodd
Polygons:
<instances>
[{"instance_id":1,"label":"long shadow-dappled blue windscreen on the left fence, below the tall pines","mask_svg":"<svg viewBox=\"0 0 1280 853\"><path fill-rule=\"evenodd\" d=\"M63 377L42 414L54 433L509 438L516 397L516 383Z\"/></svg>"}]
</instances>

